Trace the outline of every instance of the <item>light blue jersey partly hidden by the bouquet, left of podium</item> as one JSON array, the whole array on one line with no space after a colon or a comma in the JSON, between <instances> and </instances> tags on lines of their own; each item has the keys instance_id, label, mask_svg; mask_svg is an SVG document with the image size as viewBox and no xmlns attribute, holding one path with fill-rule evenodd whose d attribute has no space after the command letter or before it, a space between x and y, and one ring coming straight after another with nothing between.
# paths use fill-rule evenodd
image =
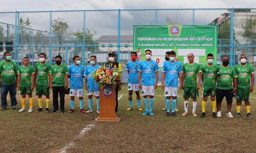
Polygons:
<instances>
[{"instance_id":1,"label":"light blue jersey partly hidden by the bouquet, left of podium","mask_svg":"<svg viewBox=\"0 0 256 153\"><path fill-rule=\"evenodd\" d=\"M95 65L92 67L92 65L88 65L85 68L84 76L87 77L87 90L88 91L99 91L99 85L97 82L91 77L91 72L95 71L96 69L99 69L100 65Z\"/></svg>"}]
</instances>

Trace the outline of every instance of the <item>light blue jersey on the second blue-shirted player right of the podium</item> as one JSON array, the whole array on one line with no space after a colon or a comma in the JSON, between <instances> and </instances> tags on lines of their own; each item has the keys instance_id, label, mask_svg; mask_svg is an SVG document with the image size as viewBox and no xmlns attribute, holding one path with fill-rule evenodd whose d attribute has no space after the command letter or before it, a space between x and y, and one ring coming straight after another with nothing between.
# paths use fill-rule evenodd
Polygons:
<instances>
[{"instance_id":1,"label":"light blue jersey on the second blue-shirted player right of the podium","mask_svg":"<svg viewBox=\"0 0 256 153\"><path fill-rule=\"evenodd\" d=\"M149 61L146 60L141 61L138 71L141 71L141 85L145 86L153 86L156 83L156 75L155 72L158 71L158 65L156 61Z\"/></svg>"}]
</instances>

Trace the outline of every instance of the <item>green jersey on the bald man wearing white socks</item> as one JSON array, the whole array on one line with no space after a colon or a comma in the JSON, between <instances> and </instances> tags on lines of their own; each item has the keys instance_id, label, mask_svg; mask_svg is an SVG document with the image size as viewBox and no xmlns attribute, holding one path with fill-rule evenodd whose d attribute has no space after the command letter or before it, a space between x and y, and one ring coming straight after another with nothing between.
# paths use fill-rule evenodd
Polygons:
<instances>
[{"instance_id":1,"label":"green jersey on the bald man wearing white socks","mask_svg":"<svg viewBox=\"0 0 256 153\"><path fill-rule=\"evenodd\" d=\"M193 63L193 64L186 63L182 66L182 72L185 73L184 86L196 87L197 74L201 73L200 65L197 63Z\"/></svg>"}]
</instances>

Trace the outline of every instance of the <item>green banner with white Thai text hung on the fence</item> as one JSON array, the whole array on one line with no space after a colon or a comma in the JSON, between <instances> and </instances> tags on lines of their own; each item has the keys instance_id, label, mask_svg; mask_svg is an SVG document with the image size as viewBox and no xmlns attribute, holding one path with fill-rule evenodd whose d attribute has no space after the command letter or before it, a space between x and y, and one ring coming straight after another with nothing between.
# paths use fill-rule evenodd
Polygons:
<instances>
[{"instance_id":1,"label":"green banner with white Thai text hung on the fence","mask_svg":"<svg viewBox=\"0 0 256 153\"><path fill-rule=\"evenodd\" d=\"M206 64L207 54L212 53L217 64L217 31L217 25L133 25L133 49L141 48L141 60L150 49L159 67L165 61L165 52L172 50L182 65L188 62L189 53L200 65Z\"/></svg>"}]
</instances>

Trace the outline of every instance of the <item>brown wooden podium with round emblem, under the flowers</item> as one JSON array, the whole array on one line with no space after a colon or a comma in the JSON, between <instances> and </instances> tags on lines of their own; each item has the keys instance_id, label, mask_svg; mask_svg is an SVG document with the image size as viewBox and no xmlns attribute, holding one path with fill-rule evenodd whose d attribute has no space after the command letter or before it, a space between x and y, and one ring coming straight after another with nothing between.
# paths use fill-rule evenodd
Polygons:
<instances>
[{"instance_id":1,"label":"brown wooden podium with round emblem, under the flowers","mask_svg":"<svg viewBox=\"0 0 256 153\"><path fill-rule=\"evenodd\" d=\"M119 84L119 77L115 80ZM100 114L95 121L119 122L120 117L116 116L116 85L106 85L100 90Z\"/></svg>"}]
</instances>

